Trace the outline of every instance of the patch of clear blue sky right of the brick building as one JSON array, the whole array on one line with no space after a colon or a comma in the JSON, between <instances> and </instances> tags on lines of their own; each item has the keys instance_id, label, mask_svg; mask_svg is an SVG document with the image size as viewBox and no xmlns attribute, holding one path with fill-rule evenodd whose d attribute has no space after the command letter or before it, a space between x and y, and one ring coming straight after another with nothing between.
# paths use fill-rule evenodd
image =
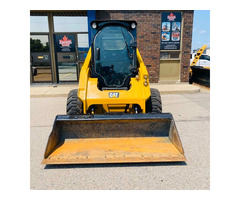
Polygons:
<instances>
[{"instance_id":1,"label":"patch of clear blue sky right of the brick building","mask_svg":"<svg viewBox=\"0 0 240 200\"><path fill-rule=\"evenodd\" d=\"M210 10L194 10L192 50L210 47Z\"/></svg>"}]
</instances>

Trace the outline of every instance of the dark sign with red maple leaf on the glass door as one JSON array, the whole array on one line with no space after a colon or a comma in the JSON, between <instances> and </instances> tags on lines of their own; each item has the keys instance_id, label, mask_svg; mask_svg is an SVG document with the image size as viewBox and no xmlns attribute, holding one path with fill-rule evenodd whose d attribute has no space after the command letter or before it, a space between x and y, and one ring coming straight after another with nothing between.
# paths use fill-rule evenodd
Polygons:
<instances>
[{"instance_id":1,"label":"dark sign with red maple leaf on the glass door","mask_svg":"<svg viewBox=\"0 0 240 200\"><path fill-rule=\"evenodd\" d=\"M57 52L74 52L75 37L74 35L56 35L56 50Z\"/></svg>"}]
</instances>

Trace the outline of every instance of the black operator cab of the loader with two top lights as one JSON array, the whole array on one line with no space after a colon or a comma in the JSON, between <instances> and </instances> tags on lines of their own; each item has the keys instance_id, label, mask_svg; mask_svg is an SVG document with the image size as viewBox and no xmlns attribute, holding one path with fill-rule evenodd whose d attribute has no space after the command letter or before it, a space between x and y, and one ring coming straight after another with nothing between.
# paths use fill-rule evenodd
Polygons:
<instances>
[{"instance_id":1,"label":"black operator cab of the loader with two top lights","mask_svg":"<svg viewBox=\"0 0 240 200\"><path fill-rule=\"evenodd\" d=\"M136 22L93 21L92 77L100 90L130 88L137 75Z\"/></svg>"}]
</instances>

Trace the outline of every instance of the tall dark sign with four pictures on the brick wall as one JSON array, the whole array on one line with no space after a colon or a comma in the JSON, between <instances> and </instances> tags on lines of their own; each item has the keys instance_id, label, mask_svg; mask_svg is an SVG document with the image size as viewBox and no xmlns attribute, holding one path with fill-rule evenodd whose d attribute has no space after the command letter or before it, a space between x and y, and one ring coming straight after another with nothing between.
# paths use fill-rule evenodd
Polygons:
<instances>
[{"instance_id":1,"label":"tall dark sign with four pictures on the brick wall","mask_svg":"<svg viewBox=\"0 0 240 200\"><path fill-rule=\"evenodd\" d=\"M162 12L161 50L180 50L181 12Z\"/></svg>"}]
</instances>

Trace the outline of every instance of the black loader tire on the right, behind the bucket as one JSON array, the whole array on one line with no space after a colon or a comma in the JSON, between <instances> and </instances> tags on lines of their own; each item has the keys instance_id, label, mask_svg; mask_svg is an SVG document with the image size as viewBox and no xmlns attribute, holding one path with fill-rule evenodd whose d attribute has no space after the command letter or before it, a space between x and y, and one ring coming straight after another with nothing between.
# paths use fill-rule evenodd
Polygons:
<instances>
[{"instance_id":1,"label":"black loader tire on the right, behind the bucket","mask_svg":"<svg viewBox=\"0 0 240 200\"><path fill-rule=\"evenodd\" d=\"M162 113L162 100L160 92L151 88L151 97L146 102L146 113Z\"/></svg>"}]
</instances>

